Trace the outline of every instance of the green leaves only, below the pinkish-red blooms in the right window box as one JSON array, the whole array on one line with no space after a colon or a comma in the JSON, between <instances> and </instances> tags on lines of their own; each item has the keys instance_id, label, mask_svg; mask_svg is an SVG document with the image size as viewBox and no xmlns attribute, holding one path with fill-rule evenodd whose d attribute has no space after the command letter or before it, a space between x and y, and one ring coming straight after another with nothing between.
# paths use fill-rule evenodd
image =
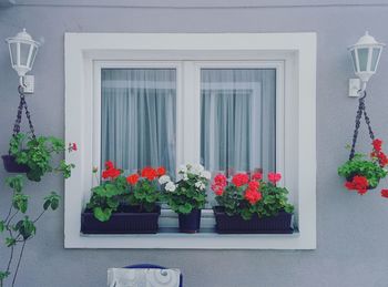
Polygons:
<instances>
[{"instance_id":1,"label":"green leaves only, below the pinkish-red blooms in the right window box","mask_svg":"<svg viewBox=\"0 0 388 287\"><path fill-rule=\"evenodd\" d=\"M224 207L229 216L241 215L245 221L252 218L254 214L258 217L275 216L279 212L293 213L294 206L288 203L288 191L285 187L278 187L272 183L261 182L259 192L262 199L251 204L245 199L244 194L247 186L236 187L227 185L222 195L215 197L219 206Z\"/></svg>"}]
</instances>

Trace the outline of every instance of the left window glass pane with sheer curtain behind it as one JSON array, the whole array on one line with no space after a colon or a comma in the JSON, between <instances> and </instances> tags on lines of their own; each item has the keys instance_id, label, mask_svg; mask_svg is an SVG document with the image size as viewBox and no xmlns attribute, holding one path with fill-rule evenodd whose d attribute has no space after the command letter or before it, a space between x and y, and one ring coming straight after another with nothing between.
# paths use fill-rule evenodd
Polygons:
<instances>
[{"instance_id":1,"label":"left window glass pane with sheer curtain behind it","mask_svg":"<svg viewBox=\"0 0 388 287\"><path fill-rule=\"evenodd\" d=\"M175 173L174 69L103 69L101 160L126 173L165 166Z\"/></svg>"}]
</instances>

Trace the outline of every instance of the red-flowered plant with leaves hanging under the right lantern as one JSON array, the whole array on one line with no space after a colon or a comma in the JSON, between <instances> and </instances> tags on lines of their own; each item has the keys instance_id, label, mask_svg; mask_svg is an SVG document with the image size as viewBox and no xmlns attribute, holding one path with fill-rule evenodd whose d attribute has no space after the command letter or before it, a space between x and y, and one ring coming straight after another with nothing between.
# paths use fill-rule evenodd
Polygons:
<instances>
[{"instance_id":1,"label":"red-flowered plant with leaves hanging under the right lantern","mask_svg":"<svg viewBox=\"0 0 388 287\"><path fill-rule=\"evenodd\" d=\"M387 176L388 172L385 167L388 164L388 157L382 152L381 145L381 140L374 140L369 158L364 154L355 154L351 160L338 167L338 175L346 178L346 188L363 195L368 189L376 188L380 180Z\"/></svg>"}]
</instances>

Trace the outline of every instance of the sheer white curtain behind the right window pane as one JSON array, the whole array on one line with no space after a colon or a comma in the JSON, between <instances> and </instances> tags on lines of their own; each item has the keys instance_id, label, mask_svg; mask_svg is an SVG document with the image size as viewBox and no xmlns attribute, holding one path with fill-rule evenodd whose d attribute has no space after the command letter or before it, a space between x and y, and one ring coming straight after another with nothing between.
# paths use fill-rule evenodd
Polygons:
<instances>
[{"instance_id":1,"label":"sheer white curtain behind the right window pane","mask_svg":"<svg viewBox=\"0 0 388 287\"><path fill-rule=\"evenodd\" d=\"M210 171L275 171L276 71L203 69L201 160Z\"/></svg>"}]
</instances>

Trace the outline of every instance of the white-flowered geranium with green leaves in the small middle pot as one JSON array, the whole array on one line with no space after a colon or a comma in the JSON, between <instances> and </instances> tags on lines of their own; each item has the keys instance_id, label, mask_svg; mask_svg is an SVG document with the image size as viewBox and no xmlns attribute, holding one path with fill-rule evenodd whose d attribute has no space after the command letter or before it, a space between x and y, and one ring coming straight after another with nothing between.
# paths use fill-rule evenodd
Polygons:
<instances>
[{"instance_id":1,"label":"white-flowered geranium with green leaves in the small middle pot","mask_svg":"<svg viewBox=\"0 0 388 287\"><path fill-rule=\"evenodd\" d=\"M166 191L165 201L171 209L177 214L190 214L193 209L202 209L206 204L206 187L211 173L201 164L187 164L180 168L178 175L181 180L176 184L171 181L161 182Z\"/></svg>"}]
</instances>

